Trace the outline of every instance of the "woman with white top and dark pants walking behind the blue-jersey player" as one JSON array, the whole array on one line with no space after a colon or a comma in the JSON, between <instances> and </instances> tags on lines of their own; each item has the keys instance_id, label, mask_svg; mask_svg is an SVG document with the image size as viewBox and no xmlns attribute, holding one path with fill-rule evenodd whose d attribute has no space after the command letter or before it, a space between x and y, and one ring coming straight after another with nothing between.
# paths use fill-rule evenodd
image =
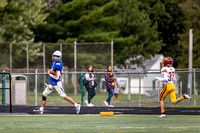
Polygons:
<instances>
[{"instance_id":1,"label":"woman with white top and dark pants walking behind the blue-jersey player","mask_svg":"<svg viewBox=\"0 0 200 133\"><path fill-rule=\"evenodd\" d=\"M96 95L95 91L95 75L92 73L94 72L92 65L87 66L87 73L85 74L85 79L88 81L88 84L86 85L86 89L88 92L87 100L85 101L86 105L88 107L93 107L94 105L91 103L92 98Z\"/></svg>"}]
</instances>

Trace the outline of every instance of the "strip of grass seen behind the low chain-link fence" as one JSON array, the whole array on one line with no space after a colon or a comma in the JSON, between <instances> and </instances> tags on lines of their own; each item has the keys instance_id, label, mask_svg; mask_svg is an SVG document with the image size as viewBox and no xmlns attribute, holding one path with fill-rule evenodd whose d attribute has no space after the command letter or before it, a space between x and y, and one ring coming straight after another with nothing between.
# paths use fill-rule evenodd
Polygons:
<instances>
[{"instance_id":1,"label":"strip of grass seen behind the low chain-link fence","mask_svg":"<svg viewBox=\"0 0 200 133\"><path fill-rule=\"evenodd\" d=\"M0 90L0 103L1 103L1 99L2 99L2 95L1 95L1 90ZM74 97L74 93L66 93L68 96L70 96L71 98L73 98L76 102L81 103L81 94L78 93L76 98ZM83 98L83 100L86 100L86 95L87 93L85 92L85 96ZM37 103L40 105L41 103L41 98L42 96L42 92L38 92L37 94ZM95 97L92 99L93 103L103 103L103 101L105 101L108 97L107 92L97 92L97 94L95 95ZM180 97L180 95L176 95L176 97ZM116 99L115 96L113 96L112 98L112 102L116 103L115 106L139 106L139 98L141 98L141 103L142 106L159 106L159 98L158 97L154 97L154 98L147 98L144 94L141 95L141 97L138 94L132 94L131 95L131 100L128 101L128 95L127 94L119 94L119 98ZM194 100L194 95L192 95L192 99ZM169 98L169 95L166 97L165 99L165 103L167 106L183 106L183 107L192 107L194 104L194 101L188 101L188 100L184 100L181 103L177 104L177 105L173 105L171 104L171 100ZM196 96L196 101L197 101L197 105L199 105L199 101L200 101L200 97L197 95ZM29 91L27 93L27 103L28 105L34 105L35 102L35 93L32 91ZM59 94L54 91L50 96L48 96L48 103L52 103L52 104L57 104L57 105L63 105L62 103L64 103L65 101L59 96ZM61 103L61 104L59 104ZM118 104L120 103L120 104ZM186 103L186 104L185 104ZM54 105L55 105L54 104ZM194 106L197 107L197 106Z\"/></svg>"}]
</instances>

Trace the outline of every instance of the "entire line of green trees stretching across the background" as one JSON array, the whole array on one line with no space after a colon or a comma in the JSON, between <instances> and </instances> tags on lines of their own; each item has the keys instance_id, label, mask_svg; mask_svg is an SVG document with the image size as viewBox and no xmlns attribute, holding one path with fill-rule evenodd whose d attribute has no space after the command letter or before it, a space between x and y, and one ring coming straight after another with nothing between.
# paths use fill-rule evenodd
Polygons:
<instances>
[{"instance_id":1,"label":"entire line of green trees stretching across the background","mask_svg":"<svg viewBox=\"0 0 200 133\"><path fill-rule=\"evenodd\" d=\"M40 0L1 0L0 16L0 42L114 41L114 65L119 67L128 67L129 58L133 59L130 64L141 66L144 60L160 53L171 56L175 67L187 68L188 32L192 28L193 67L200 67L198 0L60 0L51 6ZM5 57L1 67L9 67L5 65L9 62L8 47L0 45L0 56ZM47 50L54 48L48 46ZM66 47L63 51L71 49ZM13 60L18 63L14 68L25 67L25 50L25 46L15 46ZM83 53L78 60L91 60L97 68L109 63L107 57L101 58L104 48L88 50L91 54ZM42 46L31 45L29 52L31 67L40 67L35 64L42 61ZM72 56L65 59L69 68L73 68Z\"/></svg>"}]
</instances>

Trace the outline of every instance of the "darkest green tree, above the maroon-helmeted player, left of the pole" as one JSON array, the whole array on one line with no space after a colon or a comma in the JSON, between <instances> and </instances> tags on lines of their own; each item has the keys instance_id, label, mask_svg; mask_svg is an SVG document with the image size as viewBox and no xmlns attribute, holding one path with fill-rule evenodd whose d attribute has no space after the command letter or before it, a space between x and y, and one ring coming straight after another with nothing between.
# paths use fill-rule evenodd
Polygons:
<instances>
[{"instance_id":1,"label":"darkest green tree, above the maroon-helmeted player, left of the pole","mask_svg":"<svg viewBox=\"0 0 200 133\"><path fill-rule=\"evenodd\" d=\"M166 44L159 53L171 56L174 66L178 66L177 57L179 34L185 30L185 15L179 7L183 0L142 0L141 9L149 14L152 25L157 25L159 39Z\"/></svg>"}]
</instances>

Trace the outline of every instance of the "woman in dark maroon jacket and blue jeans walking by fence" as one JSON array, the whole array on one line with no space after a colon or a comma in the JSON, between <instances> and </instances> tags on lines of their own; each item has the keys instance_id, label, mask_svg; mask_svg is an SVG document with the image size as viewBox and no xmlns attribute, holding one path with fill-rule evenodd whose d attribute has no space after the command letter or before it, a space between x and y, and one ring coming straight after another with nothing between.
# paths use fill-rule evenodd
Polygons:
<instances>
[{"instance_id":1,"label":"woman in dark maroon jacket and blue jeans walking by fence","mask_svg":"<svg viewBox=\"0 0 200 133\"><path fill-rule=\"evenodd\" d=\"M112 96L114 95L114 88L115 88L115 76L112 73L112 67L111 65L107 66L107 71L105 74L105 81L106 81L106 89L108 92L108 98L106 101L104 101L104 104L108 107L114 107L113 105L110 104L110 100Z\"/></svg>"}]
</instances>

